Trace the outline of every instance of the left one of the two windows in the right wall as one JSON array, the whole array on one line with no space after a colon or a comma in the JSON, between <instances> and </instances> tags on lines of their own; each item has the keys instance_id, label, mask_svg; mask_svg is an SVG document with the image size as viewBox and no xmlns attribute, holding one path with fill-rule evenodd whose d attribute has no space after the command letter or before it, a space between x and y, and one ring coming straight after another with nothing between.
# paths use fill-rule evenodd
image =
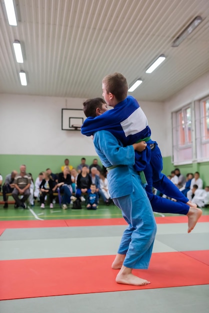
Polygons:
<instances>
[{"instance_id":1,"label":"left one of the two windows in the right wall","mask_svg":"<svg viewBox=\"0 0 209 313\"><path fill-rule=\"evenodd\" d=\"M172 113L173 162L174 165L192 160L191 104Z\"/></svg>"}]
</instances>

